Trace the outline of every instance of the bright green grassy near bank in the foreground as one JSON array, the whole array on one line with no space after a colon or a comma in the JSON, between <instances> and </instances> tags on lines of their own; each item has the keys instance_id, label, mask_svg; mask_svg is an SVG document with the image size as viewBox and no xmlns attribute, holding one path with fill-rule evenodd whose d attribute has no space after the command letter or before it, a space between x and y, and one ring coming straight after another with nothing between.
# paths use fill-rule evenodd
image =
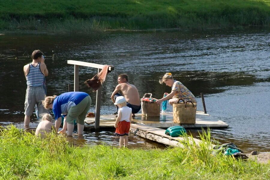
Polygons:
<instances>
[{"instance_id":1,"label":"bright green grassy near bank in the foreground","mask_svg":"<svg viewBox=\"0 0 270 180\"><path fill-rule=\"evenodd\" d=\"M1 131L0 179L269 179L269 164L186 149L72 147L62 136L40 140L13 126Z\"/></svg>"}]
</instances>

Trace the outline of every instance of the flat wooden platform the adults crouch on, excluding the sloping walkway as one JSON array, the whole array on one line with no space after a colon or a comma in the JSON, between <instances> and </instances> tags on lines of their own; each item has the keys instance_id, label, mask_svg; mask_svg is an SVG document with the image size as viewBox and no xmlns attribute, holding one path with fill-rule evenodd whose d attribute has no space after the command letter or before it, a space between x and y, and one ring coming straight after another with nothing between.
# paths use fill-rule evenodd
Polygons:
<instances>
[{"instance_id":1,"label":"flat wooden platform the adults crouch on, excluding the sloping walkway","mask_svg":"<svg viewBox=\"0 0 270 180\"><path fill-rule=\"evenodd\" d=\"M115 115L101 115L100 127L101 128L114 128L116 117ZM95 118L85 119L85 128L94 128ZM182 126L184 128L226 128L229 125L223 121L204 114L203 111L196 112L196 124L178 124L173 123L173 113L161 113L160 117L145 117L142 114L136 114L132 119L131 124L145 124L153 128L169 128L171 126Z\"/></svg>"}]
</instances>

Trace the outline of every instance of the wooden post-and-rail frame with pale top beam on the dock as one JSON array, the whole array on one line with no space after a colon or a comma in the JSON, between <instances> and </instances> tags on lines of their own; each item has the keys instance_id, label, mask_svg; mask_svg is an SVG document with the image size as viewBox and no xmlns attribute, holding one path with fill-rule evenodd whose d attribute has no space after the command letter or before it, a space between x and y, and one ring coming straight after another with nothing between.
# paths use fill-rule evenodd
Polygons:
<instances>
[{"instance_id":1,"label":"wooden post-and-rail frame with pale top beam on the dock","mask_svg":"<svg viewBox=\"0 0 270 180\"><path fill-rule=\"evenodd\" d=\"M98 73L104 67L104 65L102 64L94 64L89 62L73 61L73 60L67 60L67 64L74 64L74 91L79 91L79 66L98 68ZM114 67L109 66L109 70L110 71L114 70ZM99 131L100 106L101 106L101 89L98 89L96 97L95 131Z\"/></svg>"}]
</instances>

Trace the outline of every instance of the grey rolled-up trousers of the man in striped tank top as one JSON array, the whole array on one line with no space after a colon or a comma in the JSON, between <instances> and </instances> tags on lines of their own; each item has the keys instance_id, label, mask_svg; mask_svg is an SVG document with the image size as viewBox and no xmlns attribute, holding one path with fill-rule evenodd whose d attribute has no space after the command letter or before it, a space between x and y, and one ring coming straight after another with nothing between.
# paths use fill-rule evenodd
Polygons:
<instances>
[{"instance_id":1,"label":"grey rolled-up trousers of the man in striped tank top","mask_svg":"<svg viewBox=\"0 0 270 180\"><path fill-rule=\"evenodd\" d=\"M45 97L46 95L43 86L27 86L24 102L24 114L26 116L31 116L36 105L38 108L38 114L49 113L49 111L42 105L42 101Z\"/></svg>"}]
</instances>

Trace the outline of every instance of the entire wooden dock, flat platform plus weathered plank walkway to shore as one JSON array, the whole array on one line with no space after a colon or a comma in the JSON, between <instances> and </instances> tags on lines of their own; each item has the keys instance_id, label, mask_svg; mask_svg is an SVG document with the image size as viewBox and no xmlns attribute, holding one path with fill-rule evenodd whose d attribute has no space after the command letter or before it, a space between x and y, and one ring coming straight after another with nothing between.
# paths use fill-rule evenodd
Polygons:
<instances>
[{"instance_id":1,"label":"entire wooden dock, flat platform plus weathered plank walkway to shore","mask_svg":"<svg viewBox=\"0 0 270 180\"><path fill-rule=\"evenodd\" d=\"M114 128L116 121L115 115L101 115L101 128ZM95 129L95 118L85 119L85 128ZM161 128L169 128L171 126L182 126L184 128L226 128L229 125L220 121L209 114L204 114L202 111L196 112L196 124L178 124L173 123L173 113L161 113L160 117L145 117L142 114L136 114L132 119L130 131L137 136L163 143L168 146L184 147L181 143L183 137L171 137L165 134L165 130ZM194 141L196 145L202 143L201 140L189 137L190 141Z\"/></svg>"}]
</instances>

